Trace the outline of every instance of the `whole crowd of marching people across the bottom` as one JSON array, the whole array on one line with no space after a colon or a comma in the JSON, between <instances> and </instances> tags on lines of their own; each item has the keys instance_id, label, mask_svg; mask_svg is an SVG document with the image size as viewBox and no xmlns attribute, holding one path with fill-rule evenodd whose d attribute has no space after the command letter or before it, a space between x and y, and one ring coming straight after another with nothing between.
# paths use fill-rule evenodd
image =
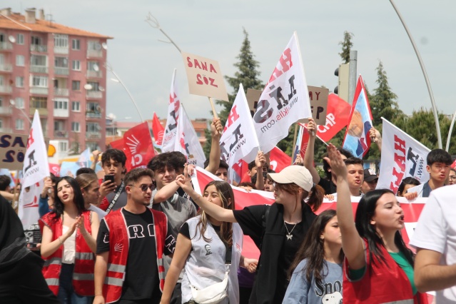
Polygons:
<instances>
[{"instance_id":1,"label":"whole crowd of marching people across the bottom","mask_svg":"<svg viewBox=\"0 0 456 304\"><path fill-rule=\"evenodd\" d=\"M377 189L378 175L363 160L331 144L321 177L315 128L310 118L307 151L293 165L276 173L260 151L248 164L250 181L230 185L214 119L205 166L218 179L201 193L180 152L127 172L125 153L109 148L101 154L104 178L94 166L49 176L39 196L42 260L11 207L20 191L0 176L0 303L427 303L432 290L436 303L454 303L450 154L430 151L430 180L404 178L393 193ZM370 136L381 149L380 133ZM93 156L94 164L98 151ZM273 192L275 202L235 208L232 186ZM429 197L410 244L398 196ZM337 201L336 210L319 211L324 198ZM258 260L243 256L243 235Z\"/></svg>"}]
</instances>

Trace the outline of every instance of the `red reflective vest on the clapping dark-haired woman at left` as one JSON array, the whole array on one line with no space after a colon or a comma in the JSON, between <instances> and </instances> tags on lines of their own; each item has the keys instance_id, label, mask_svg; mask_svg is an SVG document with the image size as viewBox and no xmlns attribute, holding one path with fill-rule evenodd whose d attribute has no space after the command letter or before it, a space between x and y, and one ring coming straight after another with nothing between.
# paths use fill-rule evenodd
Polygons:
<instances>
[{"instance_id":1,"label":"red reflective vest on the clapping dark-haired woman at left","mask_svg":"<svg viewBox=\"0 0 456 304\"><path fill-rule=\"evenodd\" d=\"M88 233L91 233L91 212L83 211L84 226ZM52 240L56 240L62 235L62 218L54 221L55 213L46 213L40 222L48 226L52 230ZM44 259L43 275L52 292L57 295L59 293L59 277L62 263L62 255L64 254L64 246L61 245L55 253ZM95 255L91 248L88 247L81 233L76 232L76 254L74 258L73 270L73 287L78 295L92 296L94 295L93 286L93 269L95 267Z\"/></svg>"}]
</instances>

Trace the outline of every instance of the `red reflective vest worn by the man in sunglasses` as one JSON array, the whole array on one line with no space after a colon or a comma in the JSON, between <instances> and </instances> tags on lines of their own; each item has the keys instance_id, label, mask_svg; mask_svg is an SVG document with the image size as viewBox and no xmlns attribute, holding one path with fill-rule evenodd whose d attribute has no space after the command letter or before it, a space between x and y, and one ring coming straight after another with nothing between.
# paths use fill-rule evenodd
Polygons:
<instances>
[{"instance_id":1,"label":"red reflective vest worn by the man in sunglasses","mask_svg":"<svg viewBox=\"0 0 456 304\"><path fill-rule=\"evenodd\" d=\"M109 258L108 269L103 284L103 297L106 303L118 301L122 295L123 280L125 280L126 264L128 259L128 232L126 220L121 213L123 208L110 212L104 217L109 230ZM165 267L163 265L163 248L168 233L168 220L165 213L149 209L153 217L153 231L155 234L155 245L157 253L158 278L160 279L160 290L165 285Z\"/></svg>"}]
</instances>

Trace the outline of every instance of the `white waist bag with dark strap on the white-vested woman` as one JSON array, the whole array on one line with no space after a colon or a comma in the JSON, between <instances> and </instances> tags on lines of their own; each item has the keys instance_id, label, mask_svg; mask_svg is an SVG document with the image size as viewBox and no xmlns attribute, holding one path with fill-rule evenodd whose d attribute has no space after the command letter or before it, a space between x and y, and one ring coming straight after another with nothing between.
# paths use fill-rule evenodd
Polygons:
<instances>
[{"instance_id":1,"label":"white waist bag with dark strap on the white-vested woman","mask_svg":"<svg viewBox=\"0 0 456 304\"><path fill-rule=\"evenodd\" d=\"M225 244L226 245L226 244ZM198 304L217 304L228 297L228 274L230 273L231 265L231 246L226 245L225 278L219 283L212 284L203 289L197 289L190 285L193 300Z\"/></svg>"}]
</instances>

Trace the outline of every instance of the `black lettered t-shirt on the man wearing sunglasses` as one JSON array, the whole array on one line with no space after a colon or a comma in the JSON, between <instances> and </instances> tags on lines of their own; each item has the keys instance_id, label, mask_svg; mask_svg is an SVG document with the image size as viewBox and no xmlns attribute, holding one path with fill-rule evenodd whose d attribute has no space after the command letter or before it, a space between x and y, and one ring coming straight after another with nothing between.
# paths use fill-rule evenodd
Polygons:
<instances>
[{"instance_id":1,"label":"black lettered t-shirt on the man wearing sunglasses","mask_svg":"<svg viewBox=\"0 0 456 304\"><path fill-rule=\"evenodd\" d=\"M156 240L153 233L153 216L151 211L134 214L121 210L125 217L128 231L128 258L126 277L123 281L123 300L151 299L151 303L159 303L161 298L160 279L158 278ZM175 240L168 227L163 254L171 254ZM101 221L96 238L96 253L109 251L109 230L106 222ZM150 288L148 286L151 286Z\"/></svg>"}]
</instances>

